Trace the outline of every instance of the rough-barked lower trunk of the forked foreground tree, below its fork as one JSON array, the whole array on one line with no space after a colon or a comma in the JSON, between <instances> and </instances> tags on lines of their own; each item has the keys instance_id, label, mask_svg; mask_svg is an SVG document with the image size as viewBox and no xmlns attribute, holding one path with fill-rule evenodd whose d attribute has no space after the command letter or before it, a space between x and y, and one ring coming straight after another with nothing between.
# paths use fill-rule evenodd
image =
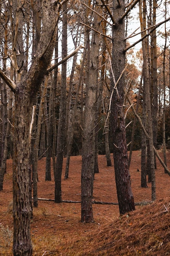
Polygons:
<instances>
[{"instance_id":1,"label":"rough-barked lower trunk of the forked foreground tree, below its fork","mask_svg":"<svg viewBox=\"0 0 170 256\"><path fill-rule=\"evenodd\" d=\"M13 255L32 255L29 198L29 124L32 105L20 87L15 93L15 131L13 139Z\"/></svg>"}]
</instances>

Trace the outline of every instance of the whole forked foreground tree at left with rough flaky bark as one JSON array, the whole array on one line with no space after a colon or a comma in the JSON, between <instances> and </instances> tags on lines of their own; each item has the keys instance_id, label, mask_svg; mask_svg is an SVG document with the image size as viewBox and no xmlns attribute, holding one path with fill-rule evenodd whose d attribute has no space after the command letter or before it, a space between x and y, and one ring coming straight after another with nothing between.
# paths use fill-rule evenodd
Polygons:
<instances>
[{"instance_id":1,"label":"whole forked foreground tree at left with rough flaky bark","mask_svg":"<svg viewBox=\"0 0 170 256\"><path fill-rule=\"evenodd\" d=\"M18 1L19 3L19 1ZM29 71L21 77L16 56L18 24L20 24L21 6L13 9L16 15L15 37L13 40L13 60L16 82L14 83L0 70L1 78L15 94L15 124L13 141L13 254L14 256L32 255L30 234L31 207L29 202L29 156L30 156L30 121L33 99L40 88L53 54L56 24L59 16L58 1L42 1L42 31L40 42ZM14 14L14 13L13 13ZM15 16L14 15L14 16ZM22 48L18 49L19 51ZM20 56L19 56L20 58ZM22 63L21 63L22 64ZM24 63L22 64L24 65Z\"/></svg>"}]
</instances>

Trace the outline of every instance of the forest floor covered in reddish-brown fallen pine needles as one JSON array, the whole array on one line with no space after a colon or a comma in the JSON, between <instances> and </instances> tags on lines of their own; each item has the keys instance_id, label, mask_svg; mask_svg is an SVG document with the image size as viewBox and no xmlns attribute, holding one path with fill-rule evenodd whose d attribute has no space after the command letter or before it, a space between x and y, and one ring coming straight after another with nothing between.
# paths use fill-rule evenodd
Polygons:
<instances>
[{"instance_id":1,"label":"forest floor covered in reddish-brown fallen pine needles","mask_svg":"<svg viewBox=\"0 0 170 256\"><path fill-rule=\"evenodd\" d=\"M159 152L163 159L162 152ZM45 158L38 162L38 198L54 199L54 178L45 182ZM99 173L95 174L93 200L117 202L114 167L106 165L106 157L99 155ZM69 178L64 180L66 158L62 173L62 200L81 200L81 156L71 157ZM113 164L113 156L112 156ZM170 168L170 152L167 152ZM52 163L51 163L52 167ZM53 168L51 168L53 169ZM139 171L137 171L139 169ZM93 204L94 223L81 220L80 203L55 204L38 201L33 208L31 237L34 256L64 255L170 255L170 176L157 160L156 195L151 203L151 183L141 188L141 151L133 151L130 178L136 211L119 215L119 206ZM12 160L7 160L4 189L0 192L0 256L12 255Z\"/></svg>"}]
</instances>

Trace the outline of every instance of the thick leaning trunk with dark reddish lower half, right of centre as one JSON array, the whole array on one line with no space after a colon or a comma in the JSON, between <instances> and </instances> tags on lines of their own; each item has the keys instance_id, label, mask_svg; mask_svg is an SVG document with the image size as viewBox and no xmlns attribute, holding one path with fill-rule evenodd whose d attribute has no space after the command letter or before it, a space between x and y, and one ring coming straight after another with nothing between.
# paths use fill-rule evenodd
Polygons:
<instances>
[{"instance_id":1,"label":"thick leaning trunk with dark reddish lower half, right of centre","mask_svg":"<svg viewBox=\"0 0 170 256\"><path fill-rule=\"evenodd\" d=\"M115 25L113 25L113 72L115 81L119 79L125 67L125 41L124 41L124 20L119 20L124 14L124 0L118 3L113 1L113 13ZM113 79L114 80L114 79ZM111 133L113 136L113 157L115 166L115 180L120 214L135 210L134 198L130 186L130 174L128 169L128 150L126 145L126 131L124 124L124 75L121 76L117 89L112 82L111 92Z\"/></svg>"}]
</instances>

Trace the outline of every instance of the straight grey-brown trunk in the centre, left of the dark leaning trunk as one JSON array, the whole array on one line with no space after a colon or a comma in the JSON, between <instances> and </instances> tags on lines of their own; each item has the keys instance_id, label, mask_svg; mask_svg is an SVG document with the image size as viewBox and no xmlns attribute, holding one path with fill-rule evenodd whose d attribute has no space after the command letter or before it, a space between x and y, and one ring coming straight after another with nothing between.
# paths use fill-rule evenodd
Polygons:
<instances>
[{"instance_id":1,"label":"straight grey-brown trunk in the centre, left of the dark leaning trunk","mask_svg":"<svg viewBox=\"0 0 170 256\"><path fill-rule=\"evenodd\" d=\"M97 10L95 4L95 10ZM93 28L98 27L96 14L94 15ZM89 31L86 30L86 35ZM87 36L87 41L89 37ZM92 32L91 47L88 47L89 59L88 77L86 79L86 106L84 113L84 130L82 144L82 174L81 174L81 214L82 222L93 222L93 180L95 165L95 101L97 90L97 70L99 55L99 34Z\"/></svg>"}]
</instances>

